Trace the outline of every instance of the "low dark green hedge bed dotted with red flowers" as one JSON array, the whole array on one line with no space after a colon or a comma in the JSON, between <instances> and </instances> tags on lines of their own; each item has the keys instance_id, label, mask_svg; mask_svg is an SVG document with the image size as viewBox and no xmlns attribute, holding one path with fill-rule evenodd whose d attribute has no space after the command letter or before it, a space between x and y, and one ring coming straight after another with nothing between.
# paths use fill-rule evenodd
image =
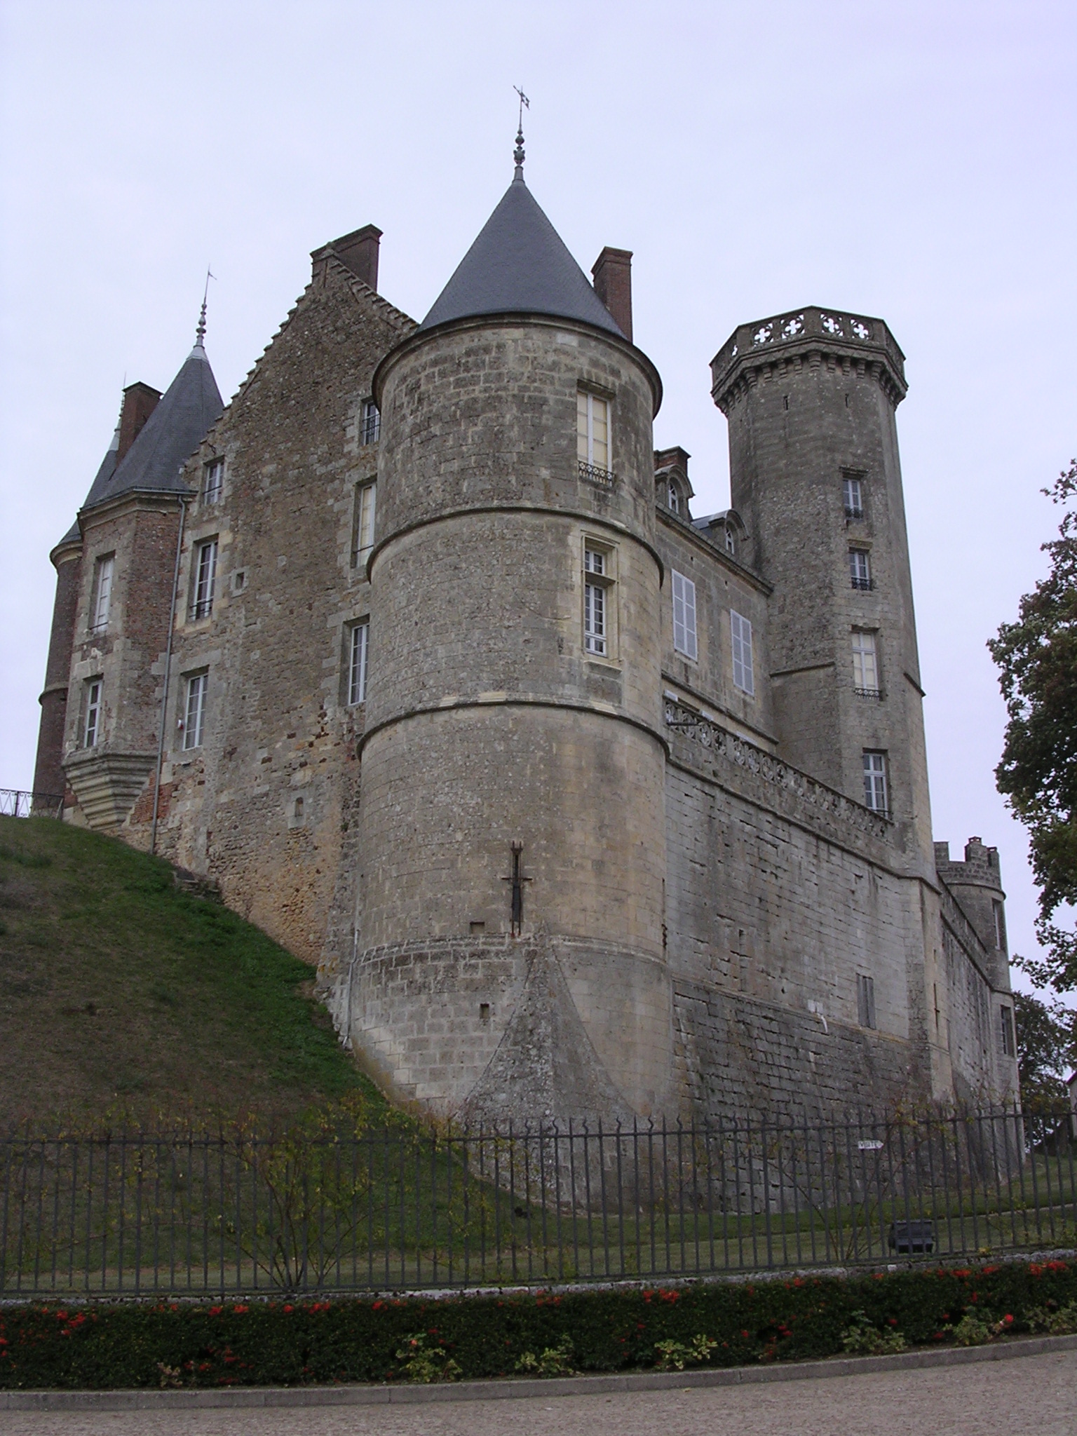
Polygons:
<instances>
[{"instance_id":1,"label":"low dark green hedge bed dotted with red flowers","mask_svg":"<svg viewBox=\"0 0 1077 1436\"><path fill-rule=\"evenodd\" d=\"M1077 1330L1077 1261L438 1300L13 1304L0 1389L682 1370L1051 1330Z\"/></svg>"}]
</instances>

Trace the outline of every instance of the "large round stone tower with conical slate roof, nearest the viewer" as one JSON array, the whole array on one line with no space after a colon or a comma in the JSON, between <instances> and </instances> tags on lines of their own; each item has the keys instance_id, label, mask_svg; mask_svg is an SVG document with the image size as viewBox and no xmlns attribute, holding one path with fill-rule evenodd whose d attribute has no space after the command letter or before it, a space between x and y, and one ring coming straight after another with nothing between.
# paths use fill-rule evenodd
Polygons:
<instances>
[{"instance_id":1,"label":"large round stone tower with conical slate roof, nearest the viewer","mask_svg":"<svg viewBox=\"0 0 1077 1436\"><path fill-rule=\"evenodd\" d=\"M442 1114L668 1100L659 396L520 164L375 376L349 1025Z\"/></svg>"}]
</instances>

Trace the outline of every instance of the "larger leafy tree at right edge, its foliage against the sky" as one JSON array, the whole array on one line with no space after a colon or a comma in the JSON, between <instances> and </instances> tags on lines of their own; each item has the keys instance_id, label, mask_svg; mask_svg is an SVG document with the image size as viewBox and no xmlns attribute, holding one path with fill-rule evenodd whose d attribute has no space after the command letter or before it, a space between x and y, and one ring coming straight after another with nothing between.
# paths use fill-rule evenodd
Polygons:
<instances>
[{"instance_id":1,"label":"larger leafy tree at right edge, its foliage against the sky","mask_svg":"<svg viewBox=\"0 0 1077 1436\"><path fill-rule=\"evenodd\" d=\"M1045 952L1043 961L1014 964L1035 987L1070 992L1077 931L1060 915L1077 906L1077 460L1044 493L1064 510L1058 537L1043 546L1051 570L988 649L1010 715L995 780L1031 837L1035 931Z\"/></svg>"}]
</instances>

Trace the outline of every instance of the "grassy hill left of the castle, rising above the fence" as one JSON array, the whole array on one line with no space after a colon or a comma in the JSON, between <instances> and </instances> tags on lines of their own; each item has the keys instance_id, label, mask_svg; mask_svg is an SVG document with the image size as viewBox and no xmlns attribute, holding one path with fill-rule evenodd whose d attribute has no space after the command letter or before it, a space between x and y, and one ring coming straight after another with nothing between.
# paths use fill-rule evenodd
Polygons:
<instances>
[{"instance_id":1,"label":"grassy hill left of the castle, rising above the fence","mask_svg":"<svg viewBox=\"0 0 1077 1436\"><path fill-rule=\"evenodd\" d=\"M168 863L66 823L0 817L0 1129L373 1096L310 997L313 976L177 887Z\"/></svg>"}]
</instances>

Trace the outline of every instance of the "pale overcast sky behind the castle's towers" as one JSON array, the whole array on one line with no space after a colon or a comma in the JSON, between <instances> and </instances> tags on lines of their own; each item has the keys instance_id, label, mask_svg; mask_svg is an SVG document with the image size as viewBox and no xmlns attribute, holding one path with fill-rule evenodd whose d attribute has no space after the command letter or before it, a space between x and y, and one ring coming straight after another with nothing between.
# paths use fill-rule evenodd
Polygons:
<instances>
[{"instance_id":1,"label":"pale overcast sky behind the castle's towers","mask_svg":"<svg viewBox=\"0 0 1077 1436\"><path fill-rule=\"evenodd\" d=\"M898 412L933 827L997 843L1031 952L1025 837L995 793L985 640L1045 572L1040 494L1077 451L1077 6L989 0L0 0L0 787L29 787L49 550L122 385L164 389L207 263L228 398L309 274L375 223L422 317L511 180L590 270L635 251L659 447L728 503L708 360L806 303L882 316ZM810 534L806 534L810 541Z\"/></svg>"}]
</instances>

